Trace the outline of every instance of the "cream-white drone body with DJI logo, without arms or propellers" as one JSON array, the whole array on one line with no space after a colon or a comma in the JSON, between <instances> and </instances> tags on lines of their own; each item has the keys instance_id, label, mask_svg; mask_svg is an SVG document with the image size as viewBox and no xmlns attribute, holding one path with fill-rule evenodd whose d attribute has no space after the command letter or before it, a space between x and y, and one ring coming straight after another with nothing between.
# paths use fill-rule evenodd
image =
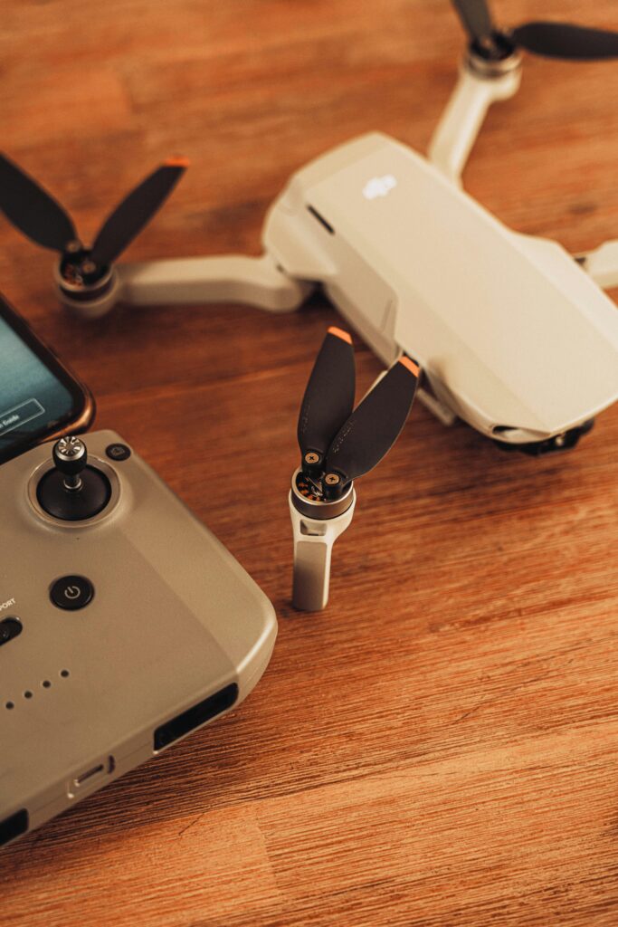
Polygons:
<instances>
[{"instance_id":1,"label":"cream-white drone body with DJI logo, without arms or propellers","mask_svg":"<svg viewBox=\"0 0 618 927\"><path fill-rule=\"evenodd\" d=\"M298 171L264 245L385 362L503 444L574 435L618 398L618 312L560 245L512 232L409 147L363 135Z\"/></svg>"}]
</instances>

